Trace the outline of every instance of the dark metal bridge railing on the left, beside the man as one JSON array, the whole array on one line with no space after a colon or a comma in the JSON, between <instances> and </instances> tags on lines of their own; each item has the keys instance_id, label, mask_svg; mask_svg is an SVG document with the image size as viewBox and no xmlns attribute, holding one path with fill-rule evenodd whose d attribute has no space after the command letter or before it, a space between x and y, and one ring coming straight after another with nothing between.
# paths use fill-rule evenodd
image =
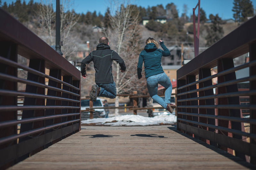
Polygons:
<instances>
[{"instance_id":1,"label":"dark metal bridge railing on the left, beside the man","mask_svg":"<svg viewBox=\"0 0 256 170\"><path fill-rule=\"evenodd\" d=\"M0 9L0 169L80 129L80 71Z\"/></svg>"}]
</instances>

